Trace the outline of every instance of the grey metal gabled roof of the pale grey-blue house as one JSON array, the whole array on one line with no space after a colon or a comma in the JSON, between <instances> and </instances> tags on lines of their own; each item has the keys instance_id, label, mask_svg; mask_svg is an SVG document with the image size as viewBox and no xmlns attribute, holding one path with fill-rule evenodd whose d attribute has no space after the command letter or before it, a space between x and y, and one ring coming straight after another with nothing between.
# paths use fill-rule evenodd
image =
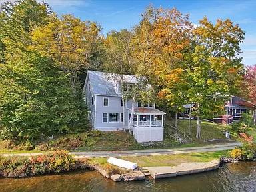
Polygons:
<instances>
[{"instance_id":1,"label":"grey metal gabled roof of the pale grey-blue house","mask_svg":"<svg viewBox=\"0 0 256 192\"><path fill-rule=\"evenodd\" d=\"M117 85L121 80L121 75L100 71L88 71L85 85L88 78L95 95L120 96L120 94L117 93ZM135 75L124 75L123 78L126 83L136 83Z\"/></svg>"}]
</instances>

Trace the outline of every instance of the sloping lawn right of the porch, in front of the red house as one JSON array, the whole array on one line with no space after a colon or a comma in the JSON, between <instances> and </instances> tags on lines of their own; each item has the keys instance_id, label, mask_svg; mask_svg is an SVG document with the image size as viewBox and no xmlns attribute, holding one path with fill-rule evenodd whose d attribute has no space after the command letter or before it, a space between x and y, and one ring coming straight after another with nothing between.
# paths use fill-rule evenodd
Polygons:
<instances>
[{"instance_id":1,"label":"sloping lawn right of the porch, in front of the red house","mask_svg":"<svg viewBox=\"0 0 256 192\"><path fill-rule=\"evenodd\" d=\"M166 121L169 125L173 125L173 121ZM178 119L178 129L185 132L187 135L189 120L187 119ZM236 139L237 136L232 133L231 125L221 125L216 123L211 123L208 121L201 122L201 138L205 139L205 141L210 139L225 139L225 135L221 133L221 131L229 131L231 132L231 139ZM197 133L197 121L191 121L191 137L193 139L193 143L203 143L201 139L196 139L195 135Z\"/></svg>"}]
</instances>

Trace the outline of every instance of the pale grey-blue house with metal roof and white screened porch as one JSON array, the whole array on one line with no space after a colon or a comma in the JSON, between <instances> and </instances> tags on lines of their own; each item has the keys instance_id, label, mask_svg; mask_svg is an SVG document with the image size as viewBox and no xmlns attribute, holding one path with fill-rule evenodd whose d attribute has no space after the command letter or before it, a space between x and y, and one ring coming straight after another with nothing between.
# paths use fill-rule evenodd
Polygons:
<instances>
[{"instance_id":1,"label":"pale grey-blue house with metal roof and white screened porch","mask_svg":"<svg viewBox=\"0 0 256 192\"><path fill-rule=\"evenodd\" d=\"M89 108L89 119L94 130L117 131L123 129L123 105L125 105L125 126L131 117L132 100L122 103L121 75L88 71L83 87L85 103ZM129 91L137 79L134 75L124 75ZM163 115L155 109L154 103L136 102L132 129L137 142L163 141Z\"/></svg>"}]
</instances>

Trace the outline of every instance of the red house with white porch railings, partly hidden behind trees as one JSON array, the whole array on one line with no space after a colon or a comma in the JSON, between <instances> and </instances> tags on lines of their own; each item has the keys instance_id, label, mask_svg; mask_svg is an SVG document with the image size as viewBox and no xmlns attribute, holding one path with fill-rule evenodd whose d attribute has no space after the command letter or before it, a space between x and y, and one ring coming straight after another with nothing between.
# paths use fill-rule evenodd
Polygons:
<instances>
[{"instance_id":1,"label":"red house with white porch railings, partly hidden behind trees","mask_svg":"<svg viewBox=\"0 0 256 192\"><path fill-rule=\"evenodd\" d=\"M245 106L241 105L241 99L239 97L231 97L230 101L227 101L224 106L224 111L226 112L224 115L213 118L214 123L221 123L225 125L229 125L234 121L241 120L242 113L247 113L247 109ZM179 113L179 119L189 119L189 108L190 104L183 105L186 111ZM193 108L196 107L193 104ZM191 119L196 119L196 117L191 117Z\"/></svg>"}]
</instances>

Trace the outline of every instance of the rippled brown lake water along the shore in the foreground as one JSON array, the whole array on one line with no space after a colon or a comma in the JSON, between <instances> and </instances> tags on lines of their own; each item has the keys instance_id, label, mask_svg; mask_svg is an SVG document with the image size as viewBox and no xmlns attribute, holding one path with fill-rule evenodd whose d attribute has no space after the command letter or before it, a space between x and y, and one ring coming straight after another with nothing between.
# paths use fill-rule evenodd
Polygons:
<instances>
[{"instance_id":1,"label":"rippled brown lake water along the shore in the foreground","mask_svg":"<svg viewBox=\"0 0 256 192\"><path fill-rule=\"evenodd\" d=\"M0 191L256 191L256 162L166 179L115 183L96 171L73 171L21 179L0 179Z\"/></svg>"}]
</instances>

